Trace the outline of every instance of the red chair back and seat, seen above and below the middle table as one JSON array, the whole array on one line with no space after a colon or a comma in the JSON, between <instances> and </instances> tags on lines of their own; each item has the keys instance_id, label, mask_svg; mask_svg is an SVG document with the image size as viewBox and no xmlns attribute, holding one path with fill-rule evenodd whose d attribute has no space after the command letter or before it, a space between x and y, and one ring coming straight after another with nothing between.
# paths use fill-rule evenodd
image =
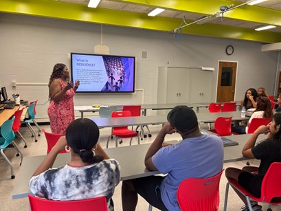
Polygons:
<instances>
[{"instance_id":1,"label":"red chair back and seat, seen above and below the middle table","mask_svg":"<svg viewBox=\"0 0 281 211\"><path fill-rule=\"evenodd\" d=\"M130 116L132 116L131 111L113 111L111 113L111 118L124 118ZM118 137L135 137L137 136L137 132L128 129L128 126L115 126L113 127L111 135L116 135Z\"/></svg>"}]
</instances>

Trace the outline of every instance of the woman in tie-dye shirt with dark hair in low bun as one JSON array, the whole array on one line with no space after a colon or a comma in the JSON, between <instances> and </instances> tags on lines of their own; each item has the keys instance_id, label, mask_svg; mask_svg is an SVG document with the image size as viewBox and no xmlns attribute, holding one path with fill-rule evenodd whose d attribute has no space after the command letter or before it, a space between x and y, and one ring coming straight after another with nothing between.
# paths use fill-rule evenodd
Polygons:
<instances>
[{"instance_id":1,"label":"woman in tie-dye shirt with dark hair in low bun","mask_svg":"<svg viewBox=\"0 0 281 211\"><path fill-rule=\"evenodd\" d=\"M30 179L30 190L37 197L58 201L92 199L105 196L108 209L113 210L111 197L120 182L120 164L98 144L100 131L87 118L71 122L66 136L46 156ZM65 166L52 168L62 150L71 153Z\"/></svg>"}]
</instances>

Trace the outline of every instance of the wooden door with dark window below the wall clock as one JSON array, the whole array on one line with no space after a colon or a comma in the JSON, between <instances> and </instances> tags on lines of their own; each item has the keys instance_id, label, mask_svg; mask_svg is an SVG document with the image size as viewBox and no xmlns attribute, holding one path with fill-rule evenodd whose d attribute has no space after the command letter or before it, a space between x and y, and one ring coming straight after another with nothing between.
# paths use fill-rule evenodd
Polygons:
<instances>
[{"instance_id":1,"label":"wooden door with dark window below the wall clock","mask_svg":"<svg viewBox=\"0 0 281 211\"><path fill-rule=\"evenodd\" d=\"M216 102L234 100L237 63L219 62Z\"/></svg>"}]
</instances>

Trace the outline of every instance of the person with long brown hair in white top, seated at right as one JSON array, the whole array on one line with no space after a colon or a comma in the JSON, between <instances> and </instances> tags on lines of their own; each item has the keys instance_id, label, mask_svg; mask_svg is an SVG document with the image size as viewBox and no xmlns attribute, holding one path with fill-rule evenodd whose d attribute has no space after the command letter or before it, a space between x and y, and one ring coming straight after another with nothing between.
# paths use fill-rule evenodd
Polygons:
<instances>
[{"instance_id":1,"label":"person with long brown hair in white top, seated at right","mask_svg":"<svg viewBox=\"0 0 281 211\"><path fill-rule=\"evenodd\" d=\"M273 113L271 109L271 102L267 97L258 97L256 98L256 110L251 115L249 119L248 126L251 123L253 118L272 118ZM248 126L232 126L232 132L238 134L247 134Z\"/></svg>"}]
</instances>

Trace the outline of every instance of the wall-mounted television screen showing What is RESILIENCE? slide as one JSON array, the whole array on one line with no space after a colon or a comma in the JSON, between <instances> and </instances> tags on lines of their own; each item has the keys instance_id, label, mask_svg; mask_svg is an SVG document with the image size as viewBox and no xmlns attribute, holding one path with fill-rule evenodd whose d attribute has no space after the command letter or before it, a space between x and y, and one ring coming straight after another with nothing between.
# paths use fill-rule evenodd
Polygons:
<instances>
[{"instance_id":1,"label":"wall-mounted television screen showing What is RESILIENCE? slide","mask_svg":"<svg viewBox=\"0 0 281 211\"><path fill-rule=\"evenodd\" d=\"M76 92L134 92L135 57L71 53L71 78Z\"/></svg>"}]
</instances>

